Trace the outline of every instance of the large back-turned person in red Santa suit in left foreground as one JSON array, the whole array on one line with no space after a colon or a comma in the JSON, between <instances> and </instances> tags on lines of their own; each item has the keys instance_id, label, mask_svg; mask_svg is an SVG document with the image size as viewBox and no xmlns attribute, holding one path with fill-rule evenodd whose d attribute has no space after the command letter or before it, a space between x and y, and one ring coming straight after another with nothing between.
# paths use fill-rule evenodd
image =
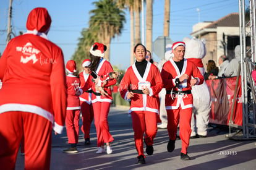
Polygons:
<instances>
[{"instance_id":1,"label":"large back-turned person in red Santa suit in left foreground","mask_svg":"<svg viewBox=\"0 0 256 170\"><path fill-rule=\"evenodd\" d=\"M50 25L45 8L33 9L28 32L9 41L0 58L0 169L15 169L22 135L25 169L49 169L52 128L64 128L64 57L46 36Z\"/></svg>"}]
</instances>

